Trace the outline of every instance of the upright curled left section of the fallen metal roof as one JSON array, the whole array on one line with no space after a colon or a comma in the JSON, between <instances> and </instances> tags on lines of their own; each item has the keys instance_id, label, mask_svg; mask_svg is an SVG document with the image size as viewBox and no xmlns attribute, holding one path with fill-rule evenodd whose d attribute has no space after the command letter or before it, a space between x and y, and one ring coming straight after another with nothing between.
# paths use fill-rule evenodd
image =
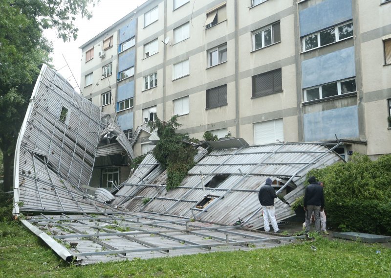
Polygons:
<instances>
[{"instance_id":1,"label":"upright curled left section of the fallen metal roof","mask_svg":"<svg viewBox=\"0 0 391 278\"><path fill-rule=\"evenodd\" d=\"M16 146L14 213L115 211L83 188L108 134L133 157L121 129L57 71L43 65Z\"/></svg>"}]
</instances>

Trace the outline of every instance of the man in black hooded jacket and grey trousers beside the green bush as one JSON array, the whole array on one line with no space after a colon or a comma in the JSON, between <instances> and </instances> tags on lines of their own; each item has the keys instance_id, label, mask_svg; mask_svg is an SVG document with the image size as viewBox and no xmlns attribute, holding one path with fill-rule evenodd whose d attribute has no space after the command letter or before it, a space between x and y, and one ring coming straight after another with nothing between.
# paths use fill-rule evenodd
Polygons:
<instances>
[{"instance_id":1,"label":"man in black hooded jacket and grey trousers beside the green bush","mask_svg":"<svg viewBox=\"0 0 391 278\"><path fill-rule=\"evenodd\" d=\"M309 232L311 214L314 212L316 232L321 232L321 210L325 208L323 187L318 185L314 176L309 177L309 185L304 192L305 233Z\"/></svg>"}]
</instances>

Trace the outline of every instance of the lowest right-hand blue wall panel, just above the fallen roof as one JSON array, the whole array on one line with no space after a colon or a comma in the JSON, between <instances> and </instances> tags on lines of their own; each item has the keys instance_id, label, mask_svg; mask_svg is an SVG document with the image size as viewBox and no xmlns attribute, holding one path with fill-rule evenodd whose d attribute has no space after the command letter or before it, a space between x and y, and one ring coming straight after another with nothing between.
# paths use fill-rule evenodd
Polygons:
<instances>
[{"instance_id":1,"label":"lowest right-hand blue wall panel, just above the fallen roof","mask_svg":"<svg viewBox=\"0 0 391 278\"><path fill-rule=\"evenodd\" d=\"M348 106L321 112L304 114L304 140L325 141L338 139L357 139L358 107Z\"/></svg>"}]
</instances>

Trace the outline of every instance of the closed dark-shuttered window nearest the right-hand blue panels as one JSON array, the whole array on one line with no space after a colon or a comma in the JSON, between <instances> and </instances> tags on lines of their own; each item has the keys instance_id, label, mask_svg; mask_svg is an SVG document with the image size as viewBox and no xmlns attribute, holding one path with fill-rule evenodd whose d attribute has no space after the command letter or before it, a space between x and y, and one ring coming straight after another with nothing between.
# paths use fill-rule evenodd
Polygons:
<instances>
[{"instance_id":1,"label":"closed dark-shuttered window nearest the right-hand blue panels","mask_svg":"<svg viewBox=\"0 0 391 278\"><path fill-rule=\"evenodd\" d=\"M281 69L271 70L252 77L252 97L282 92Z\"/></svg>"}]
</instances>

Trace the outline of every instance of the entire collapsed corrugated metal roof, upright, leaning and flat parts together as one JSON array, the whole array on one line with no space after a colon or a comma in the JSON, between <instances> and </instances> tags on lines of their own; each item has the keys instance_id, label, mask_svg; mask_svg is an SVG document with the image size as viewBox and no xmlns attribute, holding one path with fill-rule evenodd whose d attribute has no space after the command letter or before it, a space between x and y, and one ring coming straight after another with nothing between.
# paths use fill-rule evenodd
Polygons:
<instances>
[{"instance_id":1,"label":"entire collapsed corrugated metal roof, upright, leaning and flat parts together","mask_svg":"<svg viewBox=\"0 0 391 278\"><path fill-rule=\"evenodd\" d=\"M129 141L99 107L43 65L16 147L14 213L41 212L23 224L65 260L79 263L261 248L292 239L254 231L263 227L258 192L266 178L281 193L275 207L282 221L294 215L290 205L303 195L310 169L343 161L319 143L249 146L233 138L210 142L211 152L198 146L196 165L169 191L167 172L151 153L114 196L88 186L95 159L133 158L140 131Z\"/></svg>"}]
</instances>

